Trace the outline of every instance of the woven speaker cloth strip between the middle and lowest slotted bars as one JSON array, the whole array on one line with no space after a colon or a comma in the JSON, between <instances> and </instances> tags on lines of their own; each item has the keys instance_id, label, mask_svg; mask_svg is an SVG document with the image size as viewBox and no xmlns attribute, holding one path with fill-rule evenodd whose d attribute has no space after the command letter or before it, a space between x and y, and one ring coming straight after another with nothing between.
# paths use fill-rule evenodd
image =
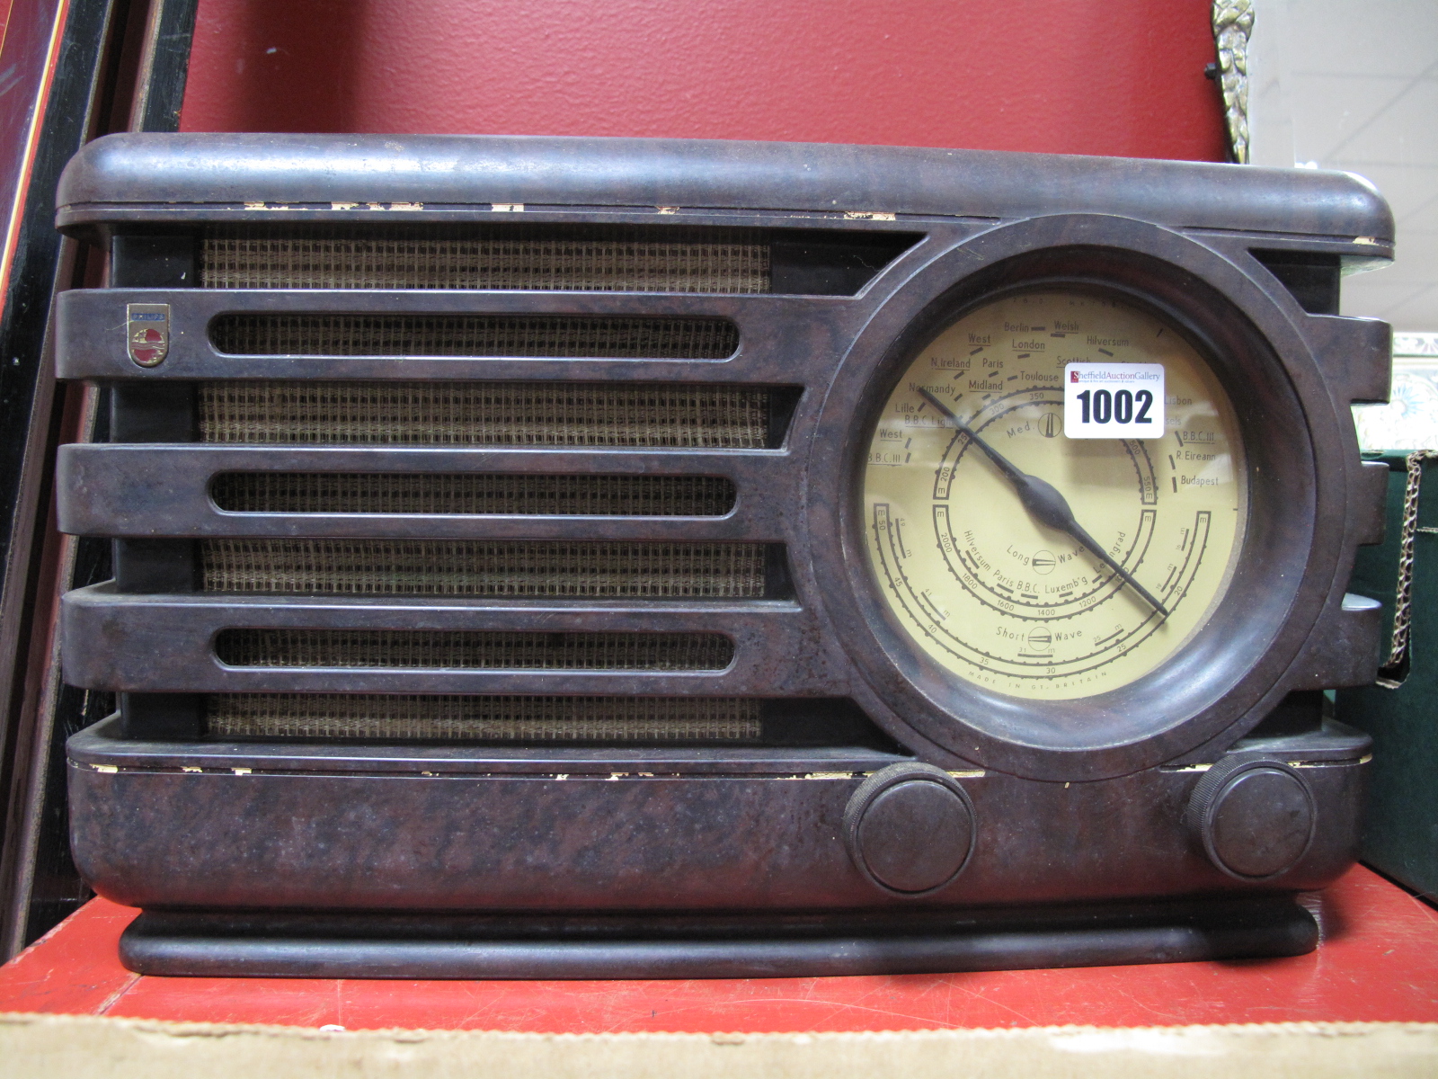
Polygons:
<instances>
[{"instance_id":1,"label":"woven speaker cloth strip between the middle and lowest slotted bars","mask_svg":"<svg viewBox=\"0 0 1438 1079\"><path fill-rule=\"evenodd\" d=\"M759 598L764 544L546 540L200 541L204 590L364 596Z\"/></svg>"}]
</instances>

